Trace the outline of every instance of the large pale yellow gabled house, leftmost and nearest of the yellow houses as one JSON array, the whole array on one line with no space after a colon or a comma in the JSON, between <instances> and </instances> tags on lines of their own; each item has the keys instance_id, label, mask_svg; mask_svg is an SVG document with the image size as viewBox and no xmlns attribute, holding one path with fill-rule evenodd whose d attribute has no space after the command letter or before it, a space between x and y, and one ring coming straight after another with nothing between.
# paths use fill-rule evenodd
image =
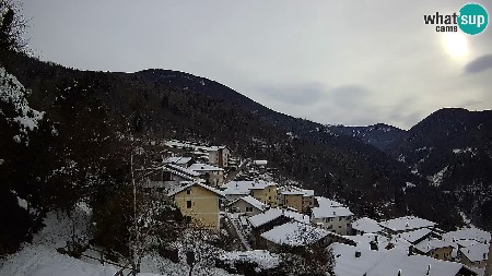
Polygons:
<instances>
[{"instance_id":1,"label":"large pale yellow gabled house, leftmost and nearest of the yellow houses","mask_svg":"<svg viewBox=\"0 0 492 276\"><path fill-rule=\"evenodd\" d=\"M220 230L219 199L221 191L192 182L168 193L184 216L191 217L200 227Z\"/></svg>"}]
</instances>

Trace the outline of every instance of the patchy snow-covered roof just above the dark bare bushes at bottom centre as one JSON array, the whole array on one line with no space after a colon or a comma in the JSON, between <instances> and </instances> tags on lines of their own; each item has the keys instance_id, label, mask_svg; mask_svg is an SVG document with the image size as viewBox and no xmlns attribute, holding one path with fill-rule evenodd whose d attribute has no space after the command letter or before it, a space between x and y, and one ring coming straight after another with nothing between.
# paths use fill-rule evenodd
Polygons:
<instances>
[{"instance_id":1,"label":"patchy snow-covered roof just above the dark bare bushes at bottom centre","mask_svg":"<svg viewBox=\"0 0 492 276\"><path fill-rule=\"evenodd\" d=\"M270 231L261 233L261 237L277 244L300 247L313 244L328 236L328 233L327 230L292 221L276 226Z\"/></svg>"}]
</instances>

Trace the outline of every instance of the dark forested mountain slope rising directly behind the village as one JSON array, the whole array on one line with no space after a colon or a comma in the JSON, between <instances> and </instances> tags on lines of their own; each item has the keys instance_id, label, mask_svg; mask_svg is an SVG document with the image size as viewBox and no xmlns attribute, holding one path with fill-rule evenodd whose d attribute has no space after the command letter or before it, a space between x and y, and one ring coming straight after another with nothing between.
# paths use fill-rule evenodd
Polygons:
<instances>
[{"instance_id":1,"label":"dark forested mountain slope rising directly behind the village","mask_svg":"<svg viewBox=\"0 0 492 276\"><path fill-rule=\"evenodd\" d=\"M139 135L227 144L239 155L271 160L282 173L318 194L343 199L361 216L411 212L444 228L459 224L457 209L448 205L453 199L427 185L425 176L411 173L409 164L361 139L336 133L330 125L271 110L215 81L169 70L78 71L22 56L2 57L2 63L33 91L33 105L62 125L75 118L101 120L91 112L70 111L74 107L104 107L112 121L127 122L109 129L120 131L126 124ZM388 132L386 124L373 127ZM397 128L391 131L403 133ZM415 188L405 189L408 183ZM421 206L421 201L431 202L434 211ZM448 214L443 217L443 212Z\"/></svg>"}]
</instances>

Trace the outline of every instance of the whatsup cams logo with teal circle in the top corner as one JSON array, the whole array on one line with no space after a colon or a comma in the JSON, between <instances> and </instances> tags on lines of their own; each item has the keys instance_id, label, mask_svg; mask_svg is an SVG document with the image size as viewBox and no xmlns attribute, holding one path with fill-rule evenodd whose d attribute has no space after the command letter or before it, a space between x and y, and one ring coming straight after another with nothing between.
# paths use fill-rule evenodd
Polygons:
<instances>
[{"instance_id":1,"label":"whatsup cams logo with teal circle in the top corner","mask_svg":"<svg viewBox=\"0 0 492 276\"><path fill-rule=\"evenodd\" d=\"M426 25L435 25L435 32L461 32L469 35L482 33L489 24L487 10L477 3L465 4L458 13L424 15Z\"/></svg>"}]
</instances>

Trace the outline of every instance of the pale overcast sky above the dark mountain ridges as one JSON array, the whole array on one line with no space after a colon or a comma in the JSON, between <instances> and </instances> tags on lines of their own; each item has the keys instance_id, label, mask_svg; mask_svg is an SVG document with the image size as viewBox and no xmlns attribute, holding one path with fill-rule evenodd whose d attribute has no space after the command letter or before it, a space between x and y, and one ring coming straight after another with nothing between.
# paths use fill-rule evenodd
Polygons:
<instances>
[{"instance_id":1,"label":"pale overcast sky above the dark mountain ridges","mask_svg":"<svg viewBox=\"0 0 492 276\"><path fill-rule=\"evenodd\" d=\"M492 108L492 26L423 23L466 1L22 2L30 47L67 67L184 71L320 123L409 129L443 107Z\"/></svg>"}]
</instances>

